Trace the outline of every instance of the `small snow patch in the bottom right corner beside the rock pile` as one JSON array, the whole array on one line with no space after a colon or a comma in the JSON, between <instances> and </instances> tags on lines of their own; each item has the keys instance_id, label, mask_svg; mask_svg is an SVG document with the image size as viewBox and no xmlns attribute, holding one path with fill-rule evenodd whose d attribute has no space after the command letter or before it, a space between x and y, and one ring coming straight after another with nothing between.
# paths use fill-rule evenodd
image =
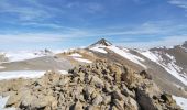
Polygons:
<instances>
[{"instance_id":1,"label":"small snow patch in the bottom right corner beside the rock pile","mask_svg":"<svg viewBox=\"0 0 187 110\"><path fill-rule=\"evenodd\" d=\"M182 107L182 109L187 110L187 99L176 96L173 96L173 98L176 100L176 103Z\"/></svg>"}]
</instances>

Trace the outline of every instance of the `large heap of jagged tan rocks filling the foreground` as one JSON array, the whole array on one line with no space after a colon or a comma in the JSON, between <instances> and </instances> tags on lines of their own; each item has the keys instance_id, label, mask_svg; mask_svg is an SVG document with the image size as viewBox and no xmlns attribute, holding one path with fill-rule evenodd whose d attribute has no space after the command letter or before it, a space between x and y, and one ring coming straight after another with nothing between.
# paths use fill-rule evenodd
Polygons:
<instances>
[{"instance_id":1,"label":"large heap of jagged tan rocks filling the foreground","mask_svg":"<svg viewBox=\"0 0 187 110\"><path fill-rule=\"evenodd\" d=\"M0 91L10 96L7 107L22 110L180 110L146 72L105 61L75 67L68 75L48 72L7 91Z\"/></svg>"}]
</instances>

